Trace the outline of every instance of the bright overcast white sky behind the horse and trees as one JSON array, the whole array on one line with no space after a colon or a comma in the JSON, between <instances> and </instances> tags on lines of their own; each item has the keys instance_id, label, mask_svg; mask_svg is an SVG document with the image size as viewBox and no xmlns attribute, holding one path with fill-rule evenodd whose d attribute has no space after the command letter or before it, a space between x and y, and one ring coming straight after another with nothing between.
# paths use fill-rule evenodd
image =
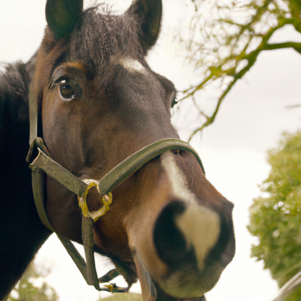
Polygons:
<instances>
[{"instance_id":1,"label":"bright overcast white sky behind the horse and trees","mask_svg":"<svg viewBox=\"0 0 301 301\"><path fill-rule=\"evenodd\" d=\"M112 0L122 12L130 0ZM85 1L85 6L89 1ZM27 61L42 40L45 0L0 1L0 61ZM181 20L189 16L184 0L163 0L163 22L160 38L148 56L154 71L175 83L178 90L196 82L193 66L185 61L185 51L174 40ZM185 22L184 22L185 23ZM301 34L287 26L276 31L270 42L301 42ZM260 194L258 185L268 176L267 150L276 147L281 133L300 128L301 109L286 106L301 104L301 55L292 49L262 52L255 65L239 80L222 103L213 125L195 135L191 145L198 151L206 177L228 200L234 203L233 219L237 242L233 261L223 272L218 284L206 294L207 301L268 301L278 288L262 262L250 258L250 246L256 238L247 231L253 198ZM173 122L182 140L187 140L195 109L181 111ZM82 252L82 246L78 246ZM36 255L35 262L50 267L48 283L61 301L96 301L98 293L87 286L55 234ZM96 255L98 275L113 265ZM121 277L117 284L125 285ZM139 292L139 284L132 287Z\"/></svg>"}]
</instances>

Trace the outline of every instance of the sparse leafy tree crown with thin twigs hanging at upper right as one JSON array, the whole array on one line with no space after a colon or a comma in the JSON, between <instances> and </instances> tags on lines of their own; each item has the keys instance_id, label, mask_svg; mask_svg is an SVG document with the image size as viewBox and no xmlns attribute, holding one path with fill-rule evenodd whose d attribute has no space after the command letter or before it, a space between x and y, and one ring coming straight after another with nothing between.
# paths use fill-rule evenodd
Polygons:
<instances>
[{"instance_id":1,"label":"sparse leafy tree crown with thin twigs hanging at upper right","mask_svg":"<svg viewBox=\"0 0 301 301\"><path fill-rule=\"evenodd\" d=\"M209 87L218 88L213 113L199 109L205 122L191 137L213 123L225 96L238 79L253 66L261 51L292 47L301 53L301 43L270 44L279 28L292 24L301 33L300 0L188 0L194 3L189 39L181 38L200 82L183 91L180 101ZM183 34L181 35L183 36ZM175 103L174 103L175 104ZM191 139L190 137L190 139ZM189 139L189 140L190 140Z\"/></svg>"}]
</instances>

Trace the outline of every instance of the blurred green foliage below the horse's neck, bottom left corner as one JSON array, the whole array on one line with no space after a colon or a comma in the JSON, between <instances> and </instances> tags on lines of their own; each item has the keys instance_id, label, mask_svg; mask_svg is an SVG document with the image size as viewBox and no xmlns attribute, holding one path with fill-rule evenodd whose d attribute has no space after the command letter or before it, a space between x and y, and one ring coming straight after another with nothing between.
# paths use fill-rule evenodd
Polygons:
<instances>
[{"instance_id":1,"label":"blurred green foliage below the horse's neck, bottom left corner","mask_svg":"<svg viewBox=\"0 0 301 301\"><path fill-rule=\"evenodd\" d=\"M54 289L50 287L43 277L49 271L38 271L33 262L29 264L26 271L17 283L8 301L57 301L58 296ZM42 282L41 286L35 285L36 281Z\"/></svg>"}]
</instances>

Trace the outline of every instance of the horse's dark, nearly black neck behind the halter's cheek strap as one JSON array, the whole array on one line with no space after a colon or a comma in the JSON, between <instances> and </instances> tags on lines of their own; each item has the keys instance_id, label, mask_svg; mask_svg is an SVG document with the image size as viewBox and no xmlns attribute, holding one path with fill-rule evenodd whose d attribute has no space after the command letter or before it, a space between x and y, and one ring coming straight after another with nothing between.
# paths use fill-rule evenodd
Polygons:
<instances>
[{"instance_id":1,"label":"horse's dark, nearly black neck behind the halter's cheek strap","mask_svg":"<svg viewBox=\"0 0 301 301\"><path fill-rule=\"evenodd\" d=\"M28 89L34 67L35 56L27 64L9 64L0 73L0 300L51 233L39 220L25 160L29 149Z\"/></svg>"}]
</instances>

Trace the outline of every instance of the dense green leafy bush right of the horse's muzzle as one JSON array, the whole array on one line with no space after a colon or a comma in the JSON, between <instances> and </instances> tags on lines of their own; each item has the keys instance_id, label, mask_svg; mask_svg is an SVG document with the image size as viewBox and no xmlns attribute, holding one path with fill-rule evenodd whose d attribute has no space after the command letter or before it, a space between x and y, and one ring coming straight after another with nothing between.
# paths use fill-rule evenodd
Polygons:
<instances>
[{"instance_id":1,"label":"dense green leafy bush right of the horse's muzzle","mask_svg":"<svg viewBox=\"0 0 301 301\"><path fill-rule=\"evenodd\" d=\"M284 134L277 149L269 151L272 169L261 191L269 197L254 199L250 207L250 233L259 239L251 256L282 287L301 270L301 132ZM301 299L301 288L286 300Z\"/></svg>"}]
</instances>

